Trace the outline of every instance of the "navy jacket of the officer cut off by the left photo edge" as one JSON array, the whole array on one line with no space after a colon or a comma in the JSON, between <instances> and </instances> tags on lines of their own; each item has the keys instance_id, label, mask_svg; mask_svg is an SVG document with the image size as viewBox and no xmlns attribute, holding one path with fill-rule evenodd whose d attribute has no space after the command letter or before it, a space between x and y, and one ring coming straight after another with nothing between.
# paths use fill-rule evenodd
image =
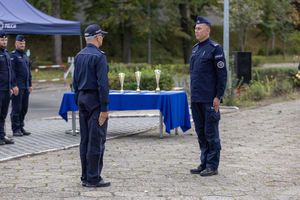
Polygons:
<instances>
[{"instance_id":1,"label":"navy jacket of the officer cut off by the left photo edge","mask_svg":"<svg viewBox=\"0 0 300 200\"><path fill-rule=\"evenodd\" d=\"M14 86L16 85L12 84L10 56L6 49L0 48L0 90L10 91Z\"/></svg>"}]
</instances>

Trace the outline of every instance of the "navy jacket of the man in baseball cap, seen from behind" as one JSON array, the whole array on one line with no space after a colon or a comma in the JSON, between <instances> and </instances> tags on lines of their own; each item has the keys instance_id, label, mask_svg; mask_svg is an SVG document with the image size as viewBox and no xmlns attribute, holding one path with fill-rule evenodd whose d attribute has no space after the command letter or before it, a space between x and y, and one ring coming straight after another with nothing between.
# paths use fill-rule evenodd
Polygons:
<instances>
[{"instance_id":1,"label":"navy jacket of the man in baseball cap, seen from behind","mask_svg":"<svg viewBox=\"0 0 300 200\"><path fill-rule=\"evenodd\" d=\"M103 51L93 44L87 44L75 57L73 87L75 102L78 102L79 91L98 91L101 112L108 111L109 83L108 64Z\"/></svg>"}]
</instances>

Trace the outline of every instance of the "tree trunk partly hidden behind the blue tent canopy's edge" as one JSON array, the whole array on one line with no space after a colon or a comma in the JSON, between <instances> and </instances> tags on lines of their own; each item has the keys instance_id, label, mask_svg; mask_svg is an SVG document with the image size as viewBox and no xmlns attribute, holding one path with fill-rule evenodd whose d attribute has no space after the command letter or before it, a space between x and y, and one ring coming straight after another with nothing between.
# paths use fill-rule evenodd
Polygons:
<instances>
[{"instance_id":1,"label":"tree trunk partly hidden behind the blue tent canopy's edge","mask_svg":"<svg viewBox=\"0 0 300 200\"><path fill-rule=\"evenodd\" d=\"M52 16L60 19L60 0L52 0ZM52 36L52 64L61 65L62 40L61 35Z\"/></svg>"}]
</instances>

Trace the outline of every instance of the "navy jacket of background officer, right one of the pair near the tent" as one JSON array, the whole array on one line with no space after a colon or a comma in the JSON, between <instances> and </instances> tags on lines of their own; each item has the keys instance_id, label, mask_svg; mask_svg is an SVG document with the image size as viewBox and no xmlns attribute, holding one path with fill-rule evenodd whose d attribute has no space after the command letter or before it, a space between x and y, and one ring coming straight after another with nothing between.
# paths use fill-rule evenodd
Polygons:
<instances>
[{"instance_id":1,"label":"navy jacket of background officer, right one of the pair near the tent","mask_svg":"<svg viewBox=\"0 0 300 200\"><path fill-rule=\"evenodd\" d=\"M30 60L24 51L15 49L10 52L12 71L13 71L13 84L17 85L19 89L28 89L32 86L31 83L31 64Z\"/></svg>"}]
</instances>

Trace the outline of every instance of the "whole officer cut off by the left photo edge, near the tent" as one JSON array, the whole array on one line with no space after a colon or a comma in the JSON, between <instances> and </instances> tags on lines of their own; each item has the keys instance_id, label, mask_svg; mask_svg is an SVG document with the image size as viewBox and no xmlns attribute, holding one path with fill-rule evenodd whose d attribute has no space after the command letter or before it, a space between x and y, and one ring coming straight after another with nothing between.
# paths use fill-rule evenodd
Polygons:
<instances>
[{"instance_id":1,"label":"whole officer cut off by the left photo edge, near the tent","mask_svg":"<svg viewBox=\"0 0 300 200\"><path fill-rule=\"evenodd\" d=\"M19 89L12 82L12 67L10 56L6 50L7 35L0 30L0 145L14 144L12 139L6 137L4 132L5 119L8 112L10 96L18 95Z\"/></svg>"}]
</instances>

